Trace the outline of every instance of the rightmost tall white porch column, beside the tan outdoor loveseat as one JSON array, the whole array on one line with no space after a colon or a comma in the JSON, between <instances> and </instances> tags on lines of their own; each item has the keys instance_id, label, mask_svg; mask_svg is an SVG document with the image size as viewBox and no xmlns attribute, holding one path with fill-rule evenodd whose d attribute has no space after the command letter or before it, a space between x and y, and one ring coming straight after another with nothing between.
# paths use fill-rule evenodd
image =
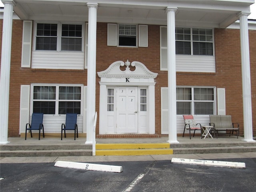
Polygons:
<instances>
[{"instance_id":1,"label":"rightmost tall white porch column, beside the tan outdoor loveseat","mask_svg":"<svg viewBox=\"0 0 256 192\"><path fill-rule=\"evenodd\" d=\"M244 112L244 139L246 142L255 142L252 138L252 98L250 77L250 52L248 19L249 14L240 14L240 42L242 60L242 90L243 90L243 112Z\"/></svg>"}]
</instances>

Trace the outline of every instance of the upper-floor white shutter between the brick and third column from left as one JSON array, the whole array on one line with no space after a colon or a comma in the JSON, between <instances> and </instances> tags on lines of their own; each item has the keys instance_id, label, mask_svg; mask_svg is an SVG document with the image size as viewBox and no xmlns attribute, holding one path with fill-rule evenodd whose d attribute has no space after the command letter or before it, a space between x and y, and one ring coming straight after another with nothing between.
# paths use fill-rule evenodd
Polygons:
<instances>
[{"instance_id":1,"label":"upper-floor white shutter between the brick and third column from left","mask_svg":"<svg viewBox=\"0 0 256 192\"><path fill-rule=\"evenodd\" d=\"M167 27L160 26L160 70L167 71Z\"/></svg>"}]
</instances>

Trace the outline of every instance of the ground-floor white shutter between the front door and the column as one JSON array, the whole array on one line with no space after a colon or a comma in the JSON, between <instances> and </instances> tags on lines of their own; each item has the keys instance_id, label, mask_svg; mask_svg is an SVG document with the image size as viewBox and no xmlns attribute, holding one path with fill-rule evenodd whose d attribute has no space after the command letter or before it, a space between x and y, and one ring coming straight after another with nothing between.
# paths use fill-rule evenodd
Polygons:
<instances>
[{"instance_id":1,"label":"ground-floor white shutter between the front door and the column","mask_svg":"<svg viewBox=\"0 0 256 192\"><path fill-rule=\"evenodd\" d=\"M168 88L161 88L161 134L169 134Z\"/></svg>"}]
</instances>

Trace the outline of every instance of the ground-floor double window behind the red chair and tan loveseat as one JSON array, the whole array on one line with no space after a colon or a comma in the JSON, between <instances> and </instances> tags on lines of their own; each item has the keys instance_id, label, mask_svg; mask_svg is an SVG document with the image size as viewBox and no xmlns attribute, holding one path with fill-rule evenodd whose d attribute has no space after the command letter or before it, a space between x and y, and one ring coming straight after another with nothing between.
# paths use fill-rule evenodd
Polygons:
<instances>
[{"instance_id":1,"label":"ground-floor double window behind the red chair and tan loveseat","mask_svg":"<svg viewBox=\"0 0 256 192\"><path fill-rule=\"evenodd\" d=\"M214 114L214 88L177 87L177 115Z\"/></svg>"}]
</instances>

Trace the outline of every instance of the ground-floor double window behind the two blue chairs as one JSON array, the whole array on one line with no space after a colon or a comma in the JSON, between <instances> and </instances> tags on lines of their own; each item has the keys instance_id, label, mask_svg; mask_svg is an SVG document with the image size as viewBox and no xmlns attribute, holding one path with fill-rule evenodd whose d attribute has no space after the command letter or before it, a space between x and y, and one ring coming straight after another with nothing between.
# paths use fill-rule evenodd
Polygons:
<instances>
[{"instance_id":1,"label":"ground-floor double window behind the two blue chairs","mask_svg":"<svg viewBox=\"0 0 256 192\"><path fill-rule=\"evenodd\" d=\"M81 114L81 86L33 86L33 112Z\"/></svg>"}]
</instances>

